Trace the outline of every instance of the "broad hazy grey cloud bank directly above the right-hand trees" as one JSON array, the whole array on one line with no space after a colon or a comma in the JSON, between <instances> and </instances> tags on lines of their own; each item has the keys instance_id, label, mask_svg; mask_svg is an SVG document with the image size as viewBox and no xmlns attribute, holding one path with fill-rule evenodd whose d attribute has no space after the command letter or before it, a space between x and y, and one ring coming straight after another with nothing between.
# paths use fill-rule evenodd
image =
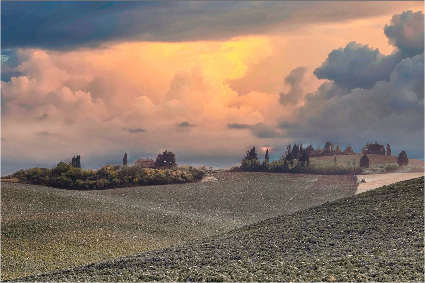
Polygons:
<instances>
[{"instance_id":1,"label":"broad hazy grey cloud bank directly above the right-hand trees","mask_svg":"<svg viewBox=\"0 0 425 283\"><path fill-rule=\"evenodd\" d=\"M280 128L288 137L316 143L348 140L360 146L365 140L379 140L398 148L410 146L419 154L422 147L417 145L423 144L424 134L423 81L422 53L403 59L388 82L378 81L370 89L356 88L329 100L326 92L332 86L326 83L307 95L296 121L283 121Z\"/></svg>"}]
</instances>

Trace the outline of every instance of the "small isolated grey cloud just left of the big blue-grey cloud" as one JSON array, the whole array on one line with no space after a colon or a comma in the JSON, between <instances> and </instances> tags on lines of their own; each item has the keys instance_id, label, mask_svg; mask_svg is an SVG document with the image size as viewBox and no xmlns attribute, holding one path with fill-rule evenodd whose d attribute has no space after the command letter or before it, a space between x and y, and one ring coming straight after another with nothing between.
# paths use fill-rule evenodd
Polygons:
<instances>
[{"instance_id":1,"label":"small isolated grey cloud just left of the big blue-grey cloud","mask_svg":"<svg viewBox=\"0 0 425 283\"><path fill-rule=\"evenodd\" d=\"M280 92L279 103L282 105L297 104L298 100L303 95L303 90L301 88L301 81L303 80L304 75L307 72L306 67L296 67L294 70L285 77L285 83L289 84L291 90L288 93Z\"/></svg>"}]
</instances>

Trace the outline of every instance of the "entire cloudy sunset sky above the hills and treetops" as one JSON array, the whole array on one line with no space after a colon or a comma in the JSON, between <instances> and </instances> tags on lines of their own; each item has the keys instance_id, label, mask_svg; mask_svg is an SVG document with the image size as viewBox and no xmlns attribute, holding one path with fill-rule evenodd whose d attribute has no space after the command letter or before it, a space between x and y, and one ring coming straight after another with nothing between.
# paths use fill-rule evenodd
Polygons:
<instances>
[{"instance_id":1,"label":"entire cloudy sunset sky above the hills and treetops","mask_svg":"<svg viewBox=\"0 0 425 283\"><path fill-rule=\"evenodd\" d=\"M1 175L238 165L252 146L424 159L423 1L2 1Z\"/></svg>"}]
</instances>

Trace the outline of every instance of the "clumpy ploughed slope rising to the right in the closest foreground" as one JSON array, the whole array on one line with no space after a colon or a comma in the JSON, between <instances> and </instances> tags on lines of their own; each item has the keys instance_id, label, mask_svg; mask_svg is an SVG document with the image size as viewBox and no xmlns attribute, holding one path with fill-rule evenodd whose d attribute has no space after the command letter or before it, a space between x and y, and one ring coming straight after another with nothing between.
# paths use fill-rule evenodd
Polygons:
<instances>
[{"instance_id":1,"label":"clumpy ploughed slope rising to the right in the closest foreground","mask_svg":"<svg viewBox=\"0 0 425 283\"><path fill-rule=\"evenodd\" d=\"M424 281L424 178L192 244L13 280Z\"/></svg>"}]
</instances>

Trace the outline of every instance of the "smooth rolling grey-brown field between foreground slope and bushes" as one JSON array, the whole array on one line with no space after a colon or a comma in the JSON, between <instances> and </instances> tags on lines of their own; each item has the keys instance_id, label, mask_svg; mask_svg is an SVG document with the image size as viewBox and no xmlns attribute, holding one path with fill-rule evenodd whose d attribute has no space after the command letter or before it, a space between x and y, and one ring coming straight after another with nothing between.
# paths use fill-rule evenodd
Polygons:
<instances>
[{"instance_id":1,"label":"smooth rolling grey-brown field between foreground slope and bushes","mask_svg":"<svg viewBox=\"0 0 425 283\"><path fill-rule=\"evenodd\" d=\"M354 195L354 176L213 174L180 185L70 191L1 183L1 280L225 234Z\"/></svg>"}]
</instances>

